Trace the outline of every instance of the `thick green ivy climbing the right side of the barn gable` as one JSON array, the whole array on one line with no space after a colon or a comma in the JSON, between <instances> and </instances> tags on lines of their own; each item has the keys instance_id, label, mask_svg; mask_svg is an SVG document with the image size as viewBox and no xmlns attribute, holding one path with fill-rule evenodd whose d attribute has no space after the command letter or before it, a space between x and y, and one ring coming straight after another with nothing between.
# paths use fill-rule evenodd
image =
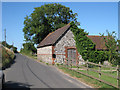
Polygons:
<instances>
[{"instance_id":1,"label":"thick green ivy climbing the right side of the barn gable","mask_svg":"<svg viewBox=\"0 0 120 90\"><path fill-rule=\"evenodd\" d=\"M82 55L84 60L89 59L90 52L95 50L95 44L86 36L88 33L86 33L84 29L78 28L74 22L71 22L70 25L75 36L74 39L78 52Z\"/></svg>"}]
</instances>

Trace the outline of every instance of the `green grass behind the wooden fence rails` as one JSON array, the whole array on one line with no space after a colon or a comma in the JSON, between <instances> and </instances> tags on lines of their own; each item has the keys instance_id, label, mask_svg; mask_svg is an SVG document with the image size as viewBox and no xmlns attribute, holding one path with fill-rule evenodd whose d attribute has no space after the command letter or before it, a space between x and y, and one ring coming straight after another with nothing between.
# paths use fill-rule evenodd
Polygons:
<instances>
[{"instance_id":1,"label":"green grass behind the wooden fence rails","mask_svg":"<svg viewBox=\"0 0 120 90\"><path fill-rule=\"evenodd\" d=\"M81 66L86 67L86 65L81 65ZM68 67L71 68L71 66L68 66ZM77 68L77 66L72 66L72 68L76 69L76 70L78 70L78 71L80 71L82 73L88 74L90 76L99 78L99 73L98 72L90 71L90 70L87 72L86 68L83 68L83 67L80 67L80 66L79 66L79 68ZM99 71L99 67L98 66L91 65L91 66L89 66L89 68L93 69L93 70ZM114 70L115 70L114 68L101 67L101 72L102 73L108 74L108 75L111 75L111 76L114 76L114 77L117 77L117 72L114 71ZM110 77L108 75L106 76L106 75L101 74L100 79L104 80L104 81L107 81L107 82L110 82L111 84L114 84L114 85L117 86L117 79L116 78L112 78L112 77Z\"/></svg>"}]
</instances>

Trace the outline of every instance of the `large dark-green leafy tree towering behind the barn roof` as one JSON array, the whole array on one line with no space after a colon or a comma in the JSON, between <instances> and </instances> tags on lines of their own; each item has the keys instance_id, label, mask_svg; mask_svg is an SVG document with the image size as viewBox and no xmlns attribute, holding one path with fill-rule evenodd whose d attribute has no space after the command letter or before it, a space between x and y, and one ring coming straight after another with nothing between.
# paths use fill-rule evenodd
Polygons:
<instances>
[{"instance_id":1,"label":"large dark-green leafy tree towering behind the barn roof","mask_svg":"<svg viewBox=\"0 0 120 90\"><path fill-rule=\"evenodd\" d=\"M40 43L50 32L68 24L77 22L77 13L61 4L45 4L35 10L24 21L24 38L26 42Z\"/></svg>"}]
</instances>

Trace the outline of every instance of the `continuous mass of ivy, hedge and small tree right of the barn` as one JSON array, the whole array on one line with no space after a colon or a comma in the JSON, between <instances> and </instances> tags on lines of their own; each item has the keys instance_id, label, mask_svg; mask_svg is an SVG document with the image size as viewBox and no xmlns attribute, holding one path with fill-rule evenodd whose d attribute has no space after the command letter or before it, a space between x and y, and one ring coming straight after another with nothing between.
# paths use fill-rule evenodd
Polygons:
<instances>
[{"instance_id":1,"label":"continuous mass of ivy, hedge and small tree right of the barn","mask_svg":"<svg viewBox=\"0 0 120 90\"><path fill-rule=\"evenodd\" d=\"M76 47L78 52L82 55L84 60L89 60L94 63L103 63L103 61L108 60L113 64L120 62L120 54L116 52L117 50L117 40L115 32L109 33L107 31L107 37L104 34L101 34L105 41L105 45L108 51L98 51L95 50L95 44L86 36L86 33L83 29L78 28L74 22L71 22L71 30L74 34L74 39L76 41Z\"/></svg>"}]
</instances>

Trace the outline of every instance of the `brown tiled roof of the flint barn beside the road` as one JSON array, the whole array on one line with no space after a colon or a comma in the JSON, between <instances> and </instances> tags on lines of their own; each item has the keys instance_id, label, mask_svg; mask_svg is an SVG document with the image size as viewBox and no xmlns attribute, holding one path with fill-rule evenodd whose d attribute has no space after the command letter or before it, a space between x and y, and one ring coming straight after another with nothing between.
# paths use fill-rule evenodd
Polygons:
<instances>
[{"instance_id":1,"label":"brown tiled roof of the flint barn beside the road","mask_svg":"<svg viewBox=\"0 0 120 90\"><path fill-rule=\"evenodd\" d=\"M64 27L61 27L57 29L56 31L49 33L37 46L44 47L55 44L55 42L70 28L70 24L65 25Z\"/></svg>"}]
</instances>

